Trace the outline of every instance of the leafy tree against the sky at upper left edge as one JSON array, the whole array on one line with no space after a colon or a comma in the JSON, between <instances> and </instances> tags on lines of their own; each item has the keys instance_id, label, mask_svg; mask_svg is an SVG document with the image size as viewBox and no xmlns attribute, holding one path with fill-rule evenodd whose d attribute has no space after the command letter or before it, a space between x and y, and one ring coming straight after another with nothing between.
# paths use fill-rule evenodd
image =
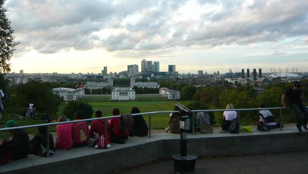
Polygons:
<instances>
[{"instance_id":1,"label":"leafy tree against the sky at upper left edge","mask_svg":"<svg viewBox=\"0 0 308 174\"><path fill-rule=\"evenodd\" d=\"M19 42L15 41L11 21L6 18L5 12L8 10L3 7L4 2L0 0L0 71L8 73L11 70L9 61Z\"/></svg>"}]
</instances>

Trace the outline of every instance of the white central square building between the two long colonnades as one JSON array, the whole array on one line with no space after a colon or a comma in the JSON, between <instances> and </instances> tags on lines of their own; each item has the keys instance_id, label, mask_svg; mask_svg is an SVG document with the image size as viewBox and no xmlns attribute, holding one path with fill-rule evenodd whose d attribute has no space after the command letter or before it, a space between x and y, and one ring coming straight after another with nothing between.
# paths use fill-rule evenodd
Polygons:
<instances>
[{"instance_id":1,"label":"white central square building between the two long colonnades","mask_svg":"<svg viewBox=\"0 0 308 174\"><path fill-rule=\"evenodd\" d=\"M112 100L135 100L135 90L132 88L115 88L111 92Z\"/></svg>"}]
</instances>

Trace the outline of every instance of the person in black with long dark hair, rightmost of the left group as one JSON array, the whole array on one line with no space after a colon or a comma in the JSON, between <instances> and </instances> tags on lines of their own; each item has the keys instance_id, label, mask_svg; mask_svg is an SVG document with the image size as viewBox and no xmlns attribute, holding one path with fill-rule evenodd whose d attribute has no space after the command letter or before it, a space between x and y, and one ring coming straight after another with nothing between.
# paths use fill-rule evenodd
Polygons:
<instances>
[{"instance_id":1,"label":"person in black with long dark hair, rightmost of the left group","mask_svg":"<svg viewBox=\"0 0 308 174\"><path fill-rule=\"evenodd\" d=\"M134 107L131 113L138 114L140 113L140 110L137 107ZM147 136L149 128L143 116L142 115L133 116L133 119L134 119L134 126L130 131L130 136Z\"/></svg>"}]
</instances>

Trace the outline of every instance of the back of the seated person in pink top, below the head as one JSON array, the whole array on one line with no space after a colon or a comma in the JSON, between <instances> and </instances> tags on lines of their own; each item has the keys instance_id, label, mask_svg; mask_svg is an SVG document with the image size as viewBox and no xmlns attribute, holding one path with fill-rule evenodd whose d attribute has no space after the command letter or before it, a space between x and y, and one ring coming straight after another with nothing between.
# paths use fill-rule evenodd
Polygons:
<instances>
[{"instance_id":1,"label":"back of the seated person in pink top, below the head","mask_svg":"<svg viewBox=\"0 0 308 174\"><path fill-rule=\"evenodd\" d=\"M72 124L59 124L56 127L58 140L56 148L60 150L69 150L73 147Z\"/></svg>"}]
</instances>

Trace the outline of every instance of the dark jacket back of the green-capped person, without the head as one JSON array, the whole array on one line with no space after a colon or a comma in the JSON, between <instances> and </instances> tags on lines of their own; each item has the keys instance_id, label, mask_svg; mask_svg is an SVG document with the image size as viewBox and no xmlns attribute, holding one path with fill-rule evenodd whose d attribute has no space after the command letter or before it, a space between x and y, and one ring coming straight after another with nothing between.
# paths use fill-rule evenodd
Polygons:
<instances>
[{"instance_id":1,"label":"dark jacket back of the green-capped person, without the head","mask_svg":"<svg viewBox=\"0 0 308 174\"><path fill-rule=\"evenodd\" d=\"M25 130L17 129L12 140L4 142L3 146L11 150L11 160L24 158L30 152L29 136Z\"/></svg>"}]
</instances>

